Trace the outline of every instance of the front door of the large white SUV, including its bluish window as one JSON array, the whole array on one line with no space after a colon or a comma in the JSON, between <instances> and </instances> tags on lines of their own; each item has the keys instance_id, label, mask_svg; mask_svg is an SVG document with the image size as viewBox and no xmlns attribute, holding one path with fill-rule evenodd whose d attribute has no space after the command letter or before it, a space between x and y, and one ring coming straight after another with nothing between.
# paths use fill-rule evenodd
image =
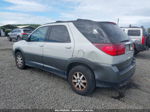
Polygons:
<instances>
[{"instance_id":1,"label":"front door of the large white SUV, including its bluish window","mask_svg":"<svg viewBox=\"0 0 150 112\"><path fill-rule=\"evenodd\" d=\"M39 68L43 67L43 47L47 30L48 27L46 26L40 27L30 35L25 49L27 64Z\"/></svg>"}]
</instances>

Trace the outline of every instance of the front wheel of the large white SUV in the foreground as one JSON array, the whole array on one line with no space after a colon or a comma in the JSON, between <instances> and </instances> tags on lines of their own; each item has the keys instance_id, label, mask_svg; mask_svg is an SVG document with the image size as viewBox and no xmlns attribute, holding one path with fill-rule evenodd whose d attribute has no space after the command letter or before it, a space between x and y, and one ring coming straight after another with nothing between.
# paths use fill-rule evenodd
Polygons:
<instances>
[{"instance_id":1,"label":"front wheel of the large white SUV in the foreground","mask_svg":"<svg viewBox=\"0 0 150 112\"><path fill-rule=\"evenodd\" d=\"M25 59L22 55L21 52L17 52L15 54L15 61L16 61L16 66L19 68L19 69L25 69Z\"/></svg>"}]
</instances>

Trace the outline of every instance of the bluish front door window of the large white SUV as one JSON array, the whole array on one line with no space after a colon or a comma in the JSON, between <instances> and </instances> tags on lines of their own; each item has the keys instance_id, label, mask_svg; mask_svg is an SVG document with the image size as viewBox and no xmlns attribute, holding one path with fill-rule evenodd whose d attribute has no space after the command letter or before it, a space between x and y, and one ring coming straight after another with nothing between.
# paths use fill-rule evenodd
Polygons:
<instances>
[{"instance_id":1,"label":"bluish front door window of the large white SUV","mask_svg":"<svg viewBox=\"0 0 150 112\"><path fill-rule=\"evenodd\" d=\"M30 36L29 41L40 42L45 40L45 36L47 34L48 27L40 27L35 32L33 32Z\"/></svg>"}]
</instances>

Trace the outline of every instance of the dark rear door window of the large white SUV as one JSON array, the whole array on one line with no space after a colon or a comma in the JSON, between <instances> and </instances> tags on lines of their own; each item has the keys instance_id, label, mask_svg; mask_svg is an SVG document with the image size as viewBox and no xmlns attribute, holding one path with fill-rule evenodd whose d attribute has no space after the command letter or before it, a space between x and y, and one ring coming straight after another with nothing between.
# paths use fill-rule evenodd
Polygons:
<instances>
[{"instance_id":1,"label":"dark rear door window of the large white SUV","mask_svg":"<svg viewBox=\"0 0 150 112\"><path fill-rule=\"evenodd\" d=\"M48 37L48 41L69 43L70 36L67 28L64 25L52 26L50 36Z\"/></svg>"}]
</instances>

